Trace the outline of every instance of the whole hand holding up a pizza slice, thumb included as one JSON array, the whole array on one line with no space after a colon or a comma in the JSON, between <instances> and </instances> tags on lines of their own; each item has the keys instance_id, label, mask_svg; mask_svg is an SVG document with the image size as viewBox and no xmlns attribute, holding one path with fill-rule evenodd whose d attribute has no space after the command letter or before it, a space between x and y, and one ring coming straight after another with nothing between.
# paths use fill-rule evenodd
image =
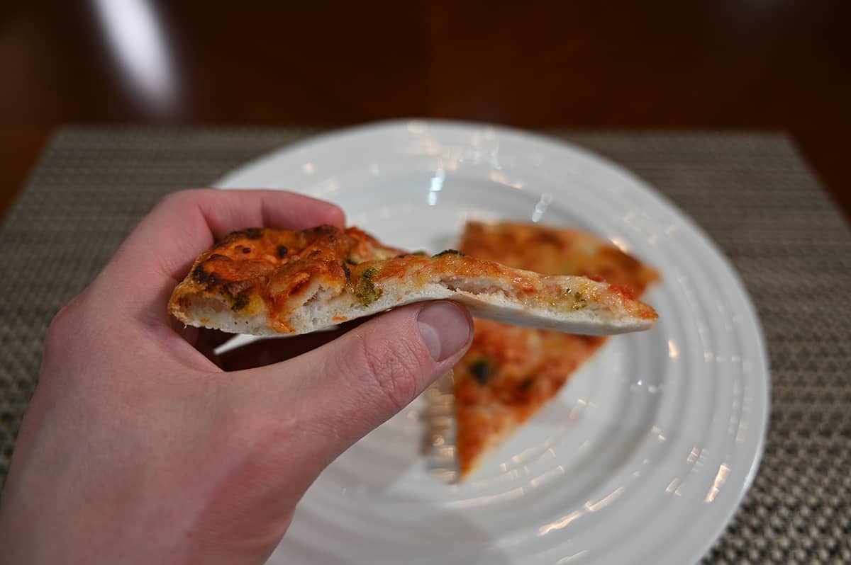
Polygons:
<instances>
[{"instance_id":1,"label":"whole hand holding up a pizza slice, thumb included","mask_svg":"<svg viewBox=\"0 0 851 565\"><path fill-rule=\"evenodd\" d=\"M202 353L218 332L175 329L168 297L215 239L321 223L341 227L343 214L300 195L203 189L142 220L50 325L0 508L4 559L263 562L319 472L452 367L472 331L450 302L231 372ZM280 347L252 351L276 359Z\"/></svg>"}]
</instances>

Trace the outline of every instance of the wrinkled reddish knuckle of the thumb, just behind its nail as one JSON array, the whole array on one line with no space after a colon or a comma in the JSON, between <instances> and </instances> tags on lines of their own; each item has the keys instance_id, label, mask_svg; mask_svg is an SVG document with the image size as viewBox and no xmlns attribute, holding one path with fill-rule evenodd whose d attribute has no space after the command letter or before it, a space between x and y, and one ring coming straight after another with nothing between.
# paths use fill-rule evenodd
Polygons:
<instances>
[{"instance_id":1,"label":"wrinkled reddish knuckle of the thumb, just behind its nail","mask_svg":"<svg viewBox=\"0 0 851 565\"><path fill-rule=\"evenodd\" d=\"M407 341L388 342L375 336L364 336L361 357L368 378L393 410L402 410L420 392L424 381L423 363L416 349Z\"/></svg>"}]
</instances>

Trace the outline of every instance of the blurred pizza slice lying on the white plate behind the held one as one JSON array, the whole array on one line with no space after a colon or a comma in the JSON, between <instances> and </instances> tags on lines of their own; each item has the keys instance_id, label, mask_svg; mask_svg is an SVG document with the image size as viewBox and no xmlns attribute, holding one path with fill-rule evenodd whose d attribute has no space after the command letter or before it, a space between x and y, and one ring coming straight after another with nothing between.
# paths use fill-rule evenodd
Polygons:
<instances>
[{"instance_id":1,"label":"blurred pizza slice lying on the white plate behind the held one","mask_svg":"<svg viewBox=\"0 0 851 565\"><path fill-rule=\"evenodd\" d=\"M640 295L659 275L594 235L519 223L468 223L460 250L513 268L597 277ZM583 336L476 319L470 350L454 368L456 454L461 478L550 399L597 351Z\"/></svg>"}]
</instances>

